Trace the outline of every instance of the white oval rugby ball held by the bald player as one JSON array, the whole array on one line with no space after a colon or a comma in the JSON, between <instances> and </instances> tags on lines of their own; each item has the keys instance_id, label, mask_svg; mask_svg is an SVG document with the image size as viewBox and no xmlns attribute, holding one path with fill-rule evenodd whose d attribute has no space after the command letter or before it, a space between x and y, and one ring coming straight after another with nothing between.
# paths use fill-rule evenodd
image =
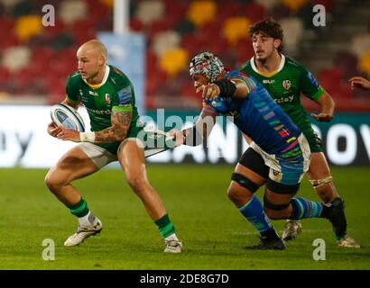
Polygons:
<instances>
[{"instance_id":1,"label":"white oval rugby ball held by the bald player","mask_svg":"<svg viewBox=\"0 0 370 288\"><path fill-rule=\"evenodd\" d=\"M51 121L53 121L57 126L85 132L85 123L79 112L62 103L51 107Z\"/></svg>"}]
</instances>

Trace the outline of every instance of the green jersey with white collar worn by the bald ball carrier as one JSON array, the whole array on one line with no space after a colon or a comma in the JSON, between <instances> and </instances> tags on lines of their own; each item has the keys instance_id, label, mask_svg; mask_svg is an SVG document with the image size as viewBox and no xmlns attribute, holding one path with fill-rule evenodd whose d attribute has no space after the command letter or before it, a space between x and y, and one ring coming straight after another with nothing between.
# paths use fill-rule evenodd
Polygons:
<instances>
[{"instance_id":1,"label":"green jersey with white collar worn by the bald ball carrier","mask_svg":"<svg viewBox=\"0 0 370 288\"><path fill-rule=\"evenodd\" d=\"M83 103L88 111L92 131L104 130L111 126L112 112L133 112L130 129L126 138L136 137L143 129L138 122L139 114L135 107L134 86L125 74L113 66L106 66L106 74L101 84L90 85L79 72L69 75L66 84L67 100L70 103ZM97 144L113 154L119 142Z\"/></svg>"}]
</instances>

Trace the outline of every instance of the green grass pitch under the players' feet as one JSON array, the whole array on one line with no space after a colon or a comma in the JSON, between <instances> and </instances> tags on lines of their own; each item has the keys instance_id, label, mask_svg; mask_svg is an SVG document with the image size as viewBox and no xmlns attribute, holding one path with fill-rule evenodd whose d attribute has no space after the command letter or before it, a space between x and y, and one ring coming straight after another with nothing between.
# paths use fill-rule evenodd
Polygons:
<instances>
[{"instance_id":1,"label":"green grass pitch under the players' feet","mask_svg":"<svg viewBox=\"0 0 370 288\"><path fill-rule=\"evenodd\" d=\"M227 198L233 166L148 165L183 241L184 253L162 253L159 231L120 170L110 169L75 185L102 220L100 235L79 247L63 247L77 220L43 184L46 170L0 170L0 269L370 269L370 168L333 168L347 202L348 232L363 247L338 247L327 220L303 220L300 238L285 251L249 251L258 234ZM262 199L262 191L257 195ZM301 196L318 200L307 180ZM273 221L282 233L283 221ZM42 259L45 238L55 260ZM315 261L312 242L326 243L326 260Z\"/></svg>"}]
</instances>

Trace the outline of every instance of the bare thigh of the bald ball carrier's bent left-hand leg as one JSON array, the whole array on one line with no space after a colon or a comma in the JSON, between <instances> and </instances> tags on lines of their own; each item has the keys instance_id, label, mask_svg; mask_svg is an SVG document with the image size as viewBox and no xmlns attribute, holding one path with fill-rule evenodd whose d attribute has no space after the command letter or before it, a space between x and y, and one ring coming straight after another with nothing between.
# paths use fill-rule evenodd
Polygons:
<instances>
[{"instance_id":1,"label":"bare thigh of the bald ball carrier's bent left-hand leg","mask_svg":"<svg viewBox=\"0 0 370 288\"><path fill-rule=\"evenodd\" d=\"M46 175L50 184L69 183L99 170L94 161L79 146L71 148Z\"/></svg>"}]
</instances>

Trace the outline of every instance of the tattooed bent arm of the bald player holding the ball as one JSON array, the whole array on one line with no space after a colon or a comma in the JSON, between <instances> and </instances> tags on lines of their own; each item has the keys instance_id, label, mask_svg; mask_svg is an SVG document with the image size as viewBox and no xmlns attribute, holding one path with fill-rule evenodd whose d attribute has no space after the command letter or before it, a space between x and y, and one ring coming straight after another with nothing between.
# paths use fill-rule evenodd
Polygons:
<instances>
[{"instance_id":1,"label":"tattooed bent arm of the bald player holding the ball","mask_svg":"<svg viewBox=\"0 0 370 288\"><path fill-rule=\"evenodd\" d=\"M95 132L95 143L121 142L130 128L133 112L113 112L112 126Z\"/></svg>"}]
</instances>

